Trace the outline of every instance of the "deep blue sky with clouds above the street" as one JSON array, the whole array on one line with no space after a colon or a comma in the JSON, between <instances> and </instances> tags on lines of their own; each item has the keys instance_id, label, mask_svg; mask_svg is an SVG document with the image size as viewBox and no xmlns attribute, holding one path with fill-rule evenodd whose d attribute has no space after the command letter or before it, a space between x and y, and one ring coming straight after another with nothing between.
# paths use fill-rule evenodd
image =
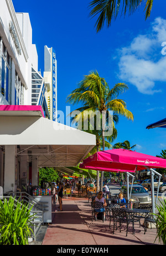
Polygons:
<instances>
[{"instance_id":1,"label":"deep blue sky with clouds above the street","mask_svg":"<svg viewBox=\"0 0 166 256\"><path fill-rule=\"evenodd\" d=\"M134 121L120 117L115 143L129 140L131 145L137 144L138 152L159 155L166 149L166 129L146 127L166 117L166 55L162 54L166 3L154 0L147 21L141 7L96 33L96 19L89 17L90 1L13 0L13 5L15 12L29 13L42 74L44 46L56 51L58 110L65 113L66 97L90 71L97 70L110 88L124 82L129 89L120 98L126 101ZM71 106L71 111L75 108Z\"/></svg>"}]
</instances>

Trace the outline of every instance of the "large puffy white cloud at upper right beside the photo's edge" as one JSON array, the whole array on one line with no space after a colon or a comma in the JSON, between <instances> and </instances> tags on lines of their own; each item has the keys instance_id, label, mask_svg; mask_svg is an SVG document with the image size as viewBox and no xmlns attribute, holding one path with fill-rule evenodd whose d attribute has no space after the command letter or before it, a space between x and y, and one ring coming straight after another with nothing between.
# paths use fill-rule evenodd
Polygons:
<instances>
[{"instance_id":1,"label":"large puffy white cloud at upper right beside the photo's edge","mask_svg":"<svg viewBox=\"0 0 166 256\"><path fill-rule=\"evenodd\" d=\"M155 84L166 82L166 56L162 55L165 41L166 20L156 18L148 34L139 34L129 46L118 51L119 77L143 94L162 92Z\"/></svg>"}]
</instances>

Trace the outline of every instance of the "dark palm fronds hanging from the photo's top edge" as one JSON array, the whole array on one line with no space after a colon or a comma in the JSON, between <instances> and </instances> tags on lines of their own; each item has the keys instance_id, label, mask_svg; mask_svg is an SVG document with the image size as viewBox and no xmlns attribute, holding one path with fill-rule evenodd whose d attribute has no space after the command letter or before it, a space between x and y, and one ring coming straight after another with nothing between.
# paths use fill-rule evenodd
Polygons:
<instances>
[{"instance_id":1,"label":"dark palm fronds hanging from the photo's top edge","mask_svg":"<svg viewBox=\"0 0 166 256\"><path fill-rule=\"evenodd\" d=\"M146 19L151 15L153 0L92 0L89 4L90 16L98 16L95 23L96 31L100 31L105 21L107 27L110 27L112 19L116 19L121 8L121 15L126 15L129 12L131 15L136 9L146 2L144 11L146 11Z\"/></svg>"}]
</instances>

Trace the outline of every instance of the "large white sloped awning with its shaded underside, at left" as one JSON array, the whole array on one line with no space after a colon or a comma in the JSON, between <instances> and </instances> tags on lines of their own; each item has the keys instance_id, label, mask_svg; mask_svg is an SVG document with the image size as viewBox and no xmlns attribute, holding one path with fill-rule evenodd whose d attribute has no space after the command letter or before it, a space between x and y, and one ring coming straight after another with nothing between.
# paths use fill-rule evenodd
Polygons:
<instances>
[{"instance_id":1,"label":"large white sloped awning with its shaded underside, at left","mask_svg":"<svg viewBox=\"0 0 166 256\"><path fill-rule=\"evenodd\" d=\"M32 155L39 167L76 166L96 145L95 135L28 113L0 113L0 145L17 145L17 154Z\"/></svg>"}]
</instances>

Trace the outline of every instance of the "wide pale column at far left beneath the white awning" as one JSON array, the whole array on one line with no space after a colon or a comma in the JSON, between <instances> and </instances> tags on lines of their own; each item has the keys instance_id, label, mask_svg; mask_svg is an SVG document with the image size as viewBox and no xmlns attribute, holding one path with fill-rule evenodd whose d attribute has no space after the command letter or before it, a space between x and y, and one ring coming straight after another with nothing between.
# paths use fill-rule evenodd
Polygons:
<instances>
[{"instance_id":1,"label":"wide pale column at far left beneath the white awning","mask_svg":"<svg viewBox=\"0 0 166 256\"><path fill-rule=\"evenodd\" d=\"M15 145L6 145L4 147L4 193L16 191L15 184Z\"/></svg>"}]
</instances>

